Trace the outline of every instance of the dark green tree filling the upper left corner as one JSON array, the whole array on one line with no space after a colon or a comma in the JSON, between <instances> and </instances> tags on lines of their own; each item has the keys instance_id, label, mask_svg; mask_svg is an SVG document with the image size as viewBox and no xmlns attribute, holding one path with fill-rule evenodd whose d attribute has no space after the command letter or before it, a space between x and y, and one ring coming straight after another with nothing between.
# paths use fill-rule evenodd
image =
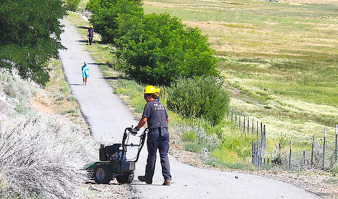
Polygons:
<instances>
[{"instance_id":1,"label":"dark green tree filling the upper left corner","mask_svg":"<svg viewBox=\"0 0 338 199\"><path fill-rule=\"evenodd\" d=\"M64 49L62 19L67 13L59 0L0 1L0 67L17 69L24 79L44 85L46 62Z\"/></svg>"}]
</instances>

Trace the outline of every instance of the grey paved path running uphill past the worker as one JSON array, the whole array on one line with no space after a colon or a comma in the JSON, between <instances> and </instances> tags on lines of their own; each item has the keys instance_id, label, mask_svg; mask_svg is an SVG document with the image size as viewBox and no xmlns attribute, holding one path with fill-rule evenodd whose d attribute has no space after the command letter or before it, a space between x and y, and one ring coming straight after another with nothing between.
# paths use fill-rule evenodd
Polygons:
<instances>
[{"instance_id":1,"label":"grey paved path running uphill past the worker","mask_svg":"<svg viewBox=\"0 0 338 199\"><path fill-rule=\"evenodd\" d=\"M90 54L84 51L86 41L69 21L64 20L62 23L66 25L61 35L62 44L68 50L60 51L60 59L72 93L76 95L81 112L91 127L92 136L103 143L121 142L124 129L136 125L138 121L113 93ZM87 86L82 85L81 77L84 61L89 64ZM132 142L137 143L137 138L133 139ZM130 151L133 149L129 149L128 153ZM281 181L251 174L199 169L180 163L172 156L172 185L161 185L163 177L159 160L153 184L148 185L137 180L138 175L144 174L146 155L145 146L136 163L136 177L129 185L131 198L320 198ZM111 190L116 190L120 185L112 183L110 186L115 186Z\"/></svg>"}]
</instances>

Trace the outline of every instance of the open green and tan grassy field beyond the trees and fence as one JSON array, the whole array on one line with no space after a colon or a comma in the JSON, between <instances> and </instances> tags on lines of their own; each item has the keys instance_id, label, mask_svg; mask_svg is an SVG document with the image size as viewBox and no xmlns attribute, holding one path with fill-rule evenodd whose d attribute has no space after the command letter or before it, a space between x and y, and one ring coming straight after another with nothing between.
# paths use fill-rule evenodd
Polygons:
<instances>
[{"instance_id":1,"label":"open green and tan grassy field beyond the trees and fence","mask_svg":"<svg viewBox=\"0 0 338 199\"><path fill-rule=\"evenodd\" d=\"M231 106L264 122L270 142L338 123L338 1L147 0L143 7L209 36Z\"/></svg>"}]
</instances>

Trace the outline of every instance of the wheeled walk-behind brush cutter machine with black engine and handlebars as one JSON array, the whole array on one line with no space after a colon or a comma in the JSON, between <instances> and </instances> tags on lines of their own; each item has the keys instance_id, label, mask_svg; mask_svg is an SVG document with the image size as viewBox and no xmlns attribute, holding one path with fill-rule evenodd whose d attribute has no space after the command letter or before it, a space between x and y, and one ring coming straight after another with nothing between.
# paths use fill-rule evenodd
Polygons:
<instances>
[{"instance_id":1,"label":"wheeled walk-behind brush cutter machine with black engine and handlebars","mask_svg":"<svg viewBox=\"0 0 338 199\"><path fill-rule=\"evenodd\" d=\"M140 143L138 145L128 144L129 136L133 134L130 128L126 128L122 144L111 146L101 145L99 149L99 162L92 162L85 166L90 173L90 178L94 179L97 184L108 184L114 178L121 184L130 184L134 179L135 163L137 162L146 137L146 129L142 132ZM128 131L128 132L127 132ZM127 140L127 142L126 142ZM126 159L127 147L138 147L137 156L131 160Z\"/></svg>"}]
</instances>

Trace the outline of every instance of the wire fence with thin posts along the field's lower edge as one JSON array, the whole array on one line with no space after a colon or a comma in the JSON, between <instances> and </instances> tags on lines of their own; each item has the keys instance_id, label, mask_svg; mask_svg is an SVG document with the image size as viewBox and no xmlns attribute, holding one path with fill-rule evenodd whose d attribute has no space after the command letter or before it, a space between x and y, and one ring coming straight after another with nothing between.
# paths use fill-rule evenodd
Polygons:
<instances>
[{"instance_id":1,"label":"wire fence with thin posts along the field's lower edge","mask_svg":"<svg viewBox=\"0 0 338 199\"><path fill-rule=\"evenodd\" d=\"M227 113L244 135L252 135L252 163L257 167L281 166L289 170L329 169L337 163L338 125L324 129L311 137L294 140L274 150L266 146L265 124L234 110Z\"/></svg>"}]
</instances>

